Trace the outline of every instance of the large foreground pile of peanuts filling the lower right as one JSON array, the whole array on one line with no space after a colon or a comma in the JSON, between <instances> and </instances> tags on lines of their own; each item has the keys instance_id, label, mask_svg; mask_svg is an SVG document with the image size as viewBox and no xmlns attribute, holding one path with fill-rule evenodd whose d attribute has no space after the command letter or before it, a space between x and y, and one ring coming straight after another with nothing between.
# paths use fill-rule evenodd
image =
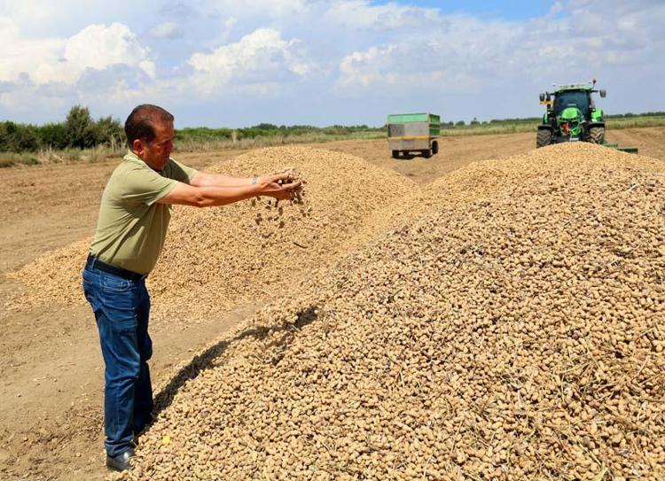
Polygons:
<instances>
[{"instance_id":1,"label":"large foreground pile of peanuts filling the lower right","mask_svg":"<svg viewBox=\"0 0 665 481\"><path fill-rule=\"evenodd\" d=\"M120 477L665 478L665 166L554 145L399 206L184 367Z\"/></svg>"}]
</instances>

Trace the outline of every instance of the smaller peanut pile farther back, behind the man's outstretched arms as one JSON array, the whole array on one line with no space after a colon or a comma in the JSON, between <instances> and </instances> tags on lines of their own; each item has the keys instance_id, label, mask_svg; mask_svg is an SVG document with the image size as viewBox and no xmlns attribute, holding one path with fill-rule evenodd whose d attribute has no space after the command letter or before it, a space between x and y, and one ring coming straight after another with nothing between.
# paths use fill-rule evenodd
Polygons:
<instances>
[{"instance_id":1,"label":"smaller peanut pile farther back, behind the man's outstretched arms","mask_svg":"<svg viewBox=\"0 0 665 481\"><path fill-rule=\"evenodd\" d=\"M411 180L333 151L286 146L250 151L207 172L251 177L287 170L304 181L293 201L254 198L230 206L175 206L160 260L147 280L151 322L184 327L278 296L376 234L372 218L418 193ZM81 271L91 239L11 276L28 289L10 306L82 305Z\"/></svg>"}]
</instances>

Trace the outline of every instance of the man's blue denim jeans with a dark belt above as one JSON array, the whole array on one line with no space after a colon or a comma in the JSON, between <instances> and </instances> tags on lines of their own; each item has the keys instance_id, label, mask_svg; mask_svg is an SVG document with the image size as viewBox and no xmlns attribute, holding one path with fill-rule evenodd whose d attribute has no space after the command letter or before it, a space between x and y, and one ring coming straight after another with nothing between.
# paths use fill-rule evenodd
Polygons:
<instances>
[{"instance_id":1,"label":"man's blue denim jeans with a dark belt above","mask_svg":"<svg viewBox=\"0 0 665 481\"><path fill-rule=\"evenodd\" d=\"M150 296L145 278L128 280L90 265L82 276L106 364L104 444L106 454L117 456L132 446L135 435L153 419L153 387L147 364L153 355L148 335Z\"/></svg>"}]
</instances>

